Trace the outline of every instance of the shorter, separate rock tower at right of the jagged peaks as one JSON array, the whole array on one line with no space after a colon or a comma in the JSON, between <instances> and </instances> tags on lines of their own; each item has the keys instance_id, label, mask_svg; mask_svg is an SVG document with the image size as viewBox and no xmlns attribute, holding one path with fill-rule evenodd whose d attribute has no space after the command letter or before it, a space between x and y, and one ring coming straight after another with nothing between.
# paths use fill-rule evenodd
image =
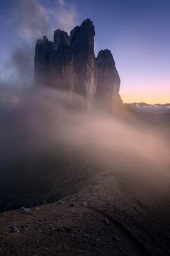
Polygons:
<instances>
[{"instance_id":1,"label":"shorter, separate rock tower at right of the jagged peaks","mask_svg":"<svg viewBox=\"0 0 170 256\"><path fill-rule=\"evenodd\" d=\"M121 105L120 78L110 50L101 50L96 58L97 84L96 102L108 110Z\"/></svg>"}]
</instances>

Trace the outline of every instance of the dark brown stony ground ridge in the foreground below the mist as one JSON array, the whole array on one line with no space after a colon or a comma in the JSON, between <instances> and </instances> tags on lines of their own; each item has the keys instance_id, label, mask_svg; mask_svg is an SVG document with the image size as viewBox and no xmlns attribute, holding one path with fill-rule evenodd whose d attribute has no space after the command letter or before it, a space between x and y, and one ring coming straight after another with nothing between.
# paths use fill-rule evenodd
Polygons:
<instances>
[{"instance_id":1,"label":"dark brown stony ground ridge in the foreground below the mist","mask_svg":"<svg viewBox=\"0 0 170 256\"><path fill-rule=\"evenodd\" d=\"M169 203L136 181L105 171L60 201L1 213L0 255L170 255Z\"/></svg>"}]
</instances>

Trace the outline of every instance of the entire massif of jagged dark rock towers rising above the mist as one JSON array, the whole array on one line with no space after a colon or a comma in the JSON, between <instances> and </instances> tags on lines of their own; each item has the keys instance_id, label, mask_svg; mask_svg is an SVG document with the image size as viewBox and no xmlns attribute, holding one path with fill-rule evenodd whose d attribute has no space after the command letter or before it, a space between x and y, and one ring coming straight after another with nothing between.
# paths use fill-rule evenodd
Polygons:
<instances>
[{"instance_id":1,"label":"entire massif of jagged dark rock towers rising above the mist","mask_svg":"<svg viewBox=\"0 0 170 256\"><path fill-rule=\"evenodd\" d=\"M94 102L112 110L120 106L120 78L110 50L94 55L94 25L86 19L75 27L70 36L60 29L54 41L44 36L35 46L35 85L55 87L84 96L83 108L91 109Z\"/></svg>"}]
</instances>

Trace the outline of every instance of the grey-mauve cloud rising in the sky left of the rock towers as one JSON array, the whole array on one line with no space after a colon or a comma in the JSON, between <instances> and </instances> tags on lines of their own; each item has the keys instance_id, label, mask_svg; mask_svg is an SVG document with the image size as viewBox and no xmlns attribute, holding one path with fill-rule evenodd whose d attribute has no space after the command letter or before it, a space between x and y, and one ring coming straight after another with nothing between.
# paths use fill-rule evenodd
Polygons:
<instances>
[{"instance_id":1,"label":"grey-mauve cloud rising in the sky left of the rock towers","mask_svg":"<svg viewBox=\"0 0 170 256\"><path fill-rule=\"evenodd\" d=\"M44 35L52 38L57 28L69 33L77 23L77 9L64 0L54 1L52 6L45 6L38 0L17 0L15 10L8 16L10 18L1 17L1 23L8 21L8 26L13 26L18 36L18 45L6 63L1 64L0 83L3 88L4 85L26 88L33 85L36 41Z\"/></svg>"}]
</instances>

